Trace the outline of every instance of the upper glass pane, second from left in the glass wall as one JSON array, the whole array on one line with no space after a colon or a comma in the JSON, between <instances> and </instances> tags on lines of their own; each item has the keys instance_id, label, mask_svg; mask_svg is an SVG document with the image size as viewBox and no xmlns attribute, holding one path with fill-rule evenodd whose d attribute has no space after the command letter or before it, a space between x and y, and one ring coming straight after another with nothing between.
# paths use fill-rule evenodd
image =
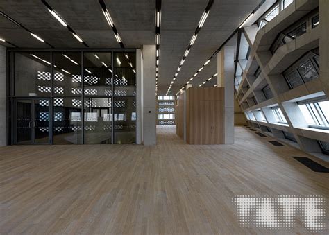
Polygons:
<instances>
[{"instance_id":1,"label":"upper glass pane, second from left in the glass wall","mask_svg":"<svg viewBox=\"0 0 329 235\"><path fill-rule=\"evenodd\" d=\"M53 94L55 96L81 95L81 53L53 53Z\"/></svg>"}]
</instances>

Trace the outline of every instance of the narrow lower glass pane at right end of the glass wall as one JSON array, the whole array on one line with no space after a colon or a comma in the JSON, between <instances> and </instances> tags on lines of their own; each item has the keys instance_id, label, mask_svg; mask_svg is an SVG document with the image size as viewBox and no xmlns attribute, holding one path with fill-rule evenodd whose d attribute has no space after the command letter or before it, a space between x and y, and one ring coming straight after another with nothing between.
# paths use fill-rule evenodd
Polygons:
<instances>
[{"instance_id":1,"label":"narrow lower glass pane at right end of the glass wall","mask_svg":"<svg viewBox=\"0 0 329 235\"><path fill-rule=\"evenodd\" d=\"M135 97L115 98L115 143L136 142Z\"/></svg>"}]
</instances>

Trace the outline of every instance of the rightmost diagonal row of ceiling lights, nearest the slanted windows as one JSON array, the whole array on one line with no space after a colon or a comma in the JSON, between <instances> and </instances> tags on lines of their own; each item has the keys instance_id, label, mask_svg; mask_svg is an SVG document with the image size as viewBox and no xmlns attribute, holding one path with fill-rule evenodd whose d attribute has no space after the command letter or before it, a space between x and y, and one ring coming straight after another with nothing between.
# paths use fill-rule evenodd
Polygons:
<instances>
[{"instance_id":1,"label":"rightmost diagonal row of ceiling lights, nearest the slanted windows","mask_svg":"<svg viewBox=\"0 0 329 235\"><path fill-rule=\"evenodd\" d=\"M264 1L262 1L262 3L264 3ZM235 35L235 33L237 33L237 31L239 30L239 28L242 28L246 22L251 19L251 17L253 17L253 15L255 14L255 11L260 8L260 6L262 6L262 3L260 3L249 15L248 17L246 17L246 19L244 19L244 21L242 21L242 24L239 25L239 27L237 29L235 29L235 31L233 31L233 33L228 37L228 39L223 42L223 44L221 46L219 46L219 49L217 49L216 51L214 51L214 53L212 53L212 55L210 56L210 58L201 66L201 68L196 71L196 73L194 73L194 76L192 78L190 78L185 85L189 84L189 82L192 82L192 80L198 75L198 73L207 65L209 64L210 60L212 60L212 58L214 58L217 53L219 53L219 51L221 51L222 47L233 37L233 35ZM185 52L186 53L186 52ZM188 53L187 53L188 54ZM217 76L217 73L214 75L214 76ZM211 78L208 78L208 80L206 80L205 82L201 83L201 85L199 85L199 87L202 87L205 83L207 83L209 80L211 80L214 76L212 76ZM171 82L171 85L173 84L174 82ZM168 92L170 91L170 88L171 88L171 85L167 91L167 94ZM180 90L178 90L178 92L176 93L176 96L178 96L178 94L185 88L185 85L180 88ZM217 87L217 85L214 85L214 87Z\"/></svg>"}]
</instances>

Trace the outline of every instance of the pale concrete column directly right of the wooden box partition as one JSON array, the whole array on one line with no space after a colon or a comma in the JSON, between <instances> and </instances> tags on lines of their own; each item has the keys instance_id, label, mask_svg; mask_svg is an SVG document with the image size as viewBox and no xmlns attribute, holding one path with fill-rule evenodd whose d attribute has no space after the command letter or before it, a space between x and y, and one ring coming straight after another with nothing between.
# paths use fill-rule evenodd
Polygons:
<instances>
[{"instance_id":1,"label":"pale concrete column directly right of the wooden box partition","mask_svg":"<svg viewBox=\"0 0 329 235\"><path fill-rule=\"evenodd\" d=\"M225 88L224 143L234 143L234 46L217 54L217 87Z\"/></svg>"}]
</instances>

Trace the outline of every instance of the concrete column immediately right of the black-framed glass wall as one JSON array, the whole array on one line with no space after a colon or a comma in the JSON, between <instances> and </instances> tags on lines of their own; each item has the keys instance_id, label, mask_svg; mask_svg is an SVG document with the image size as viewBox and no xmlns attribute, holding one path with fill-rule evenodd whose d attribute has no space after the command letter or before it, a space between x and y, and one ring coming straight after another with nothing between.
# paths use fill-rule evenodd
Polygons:
<instances>
[{"instance_id":1,"label":"concrete column immediately right of the black-framed glass wall","mask_svg":"<svg viewBox=\"0 0 329 235\"><path fill-rule=\"evenodd\" d=\"M142 46L144 145L156 144L155 45Z\"/></svg>"}]
</instances>

